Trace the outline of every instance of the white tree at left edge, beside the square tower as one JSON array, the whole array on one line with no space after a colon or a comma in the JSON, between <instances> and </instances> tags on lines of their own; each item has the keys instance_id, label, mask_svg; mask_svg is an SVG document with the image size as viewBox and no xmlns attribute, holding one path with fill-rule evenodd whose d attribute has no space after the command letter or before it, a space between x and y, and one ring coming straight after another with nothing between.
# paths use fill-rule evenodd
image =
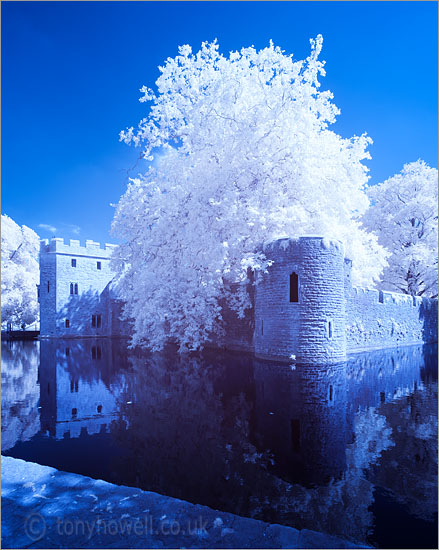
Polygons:
<instances>
[{"instance_id":1,"label":"white tree at left edge, beside the square tower","mask_svg":"<svg viewBox=\"0 0 439 550\"><path fill-rule=\"evenodd\" d=\"M39 237L2 214L2 326L21 327L38 320Z\"/></svg>"}]
</instances>

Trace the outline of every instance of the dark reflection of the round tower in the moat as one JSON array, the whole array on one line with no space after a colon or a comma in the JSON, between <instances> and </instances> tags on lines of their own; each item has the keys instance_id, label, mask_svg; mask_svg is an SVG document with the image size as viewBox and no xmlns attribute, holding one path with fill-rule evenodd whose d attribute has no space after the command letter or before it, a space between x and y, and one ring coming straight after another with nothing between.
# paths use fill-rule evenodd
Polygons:
<instances>
[{"instance_id":1,"label":"dark reflection of the round tower in the moat","mask_svg":"<svg viewBox=\"0 0 439 550\"><path fill-rule=\"evenodd\" d=\"M346 467L345 365L290 367L255 361L256 444L292 482L325 484Z\"/></svg>"}]
</instances>

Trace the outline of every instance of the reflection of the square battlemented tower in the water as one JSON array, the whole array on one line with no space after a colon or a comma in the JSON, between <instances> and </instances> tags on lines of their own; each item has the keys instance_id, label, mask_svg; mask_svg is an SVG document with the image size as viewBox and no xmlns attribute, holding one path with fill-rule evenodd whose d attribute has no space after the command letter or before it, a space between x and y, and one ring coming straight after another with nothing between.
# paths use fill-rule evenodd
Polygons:
<instances>
[{"instance_id":1,"label":"reflection of the square battlemented tower in the water","mask_svg":"<svg viewBox=\"0 0 439 550\"><path fill-rule=\"evenodd\" d=\"M95 434L107 429L116 416L120 385L111 388L111 340L56 340L41 342L40 406L43 433L62 438Z\"/></svg>"}]
</instances>

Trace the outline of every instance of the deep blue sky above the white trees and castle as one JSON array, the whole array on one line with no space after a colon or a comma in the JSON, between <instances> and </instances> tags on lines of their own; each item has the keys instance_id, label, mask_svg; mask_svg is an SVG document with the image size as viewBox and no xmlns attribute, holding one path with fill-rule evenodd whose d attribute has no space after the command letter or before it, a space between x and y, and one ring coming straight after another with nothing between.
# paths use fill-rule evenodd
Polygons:
<instances>
[{"instance_id":1,"label":"deep blue sky above the white trees and castle","mask_svg":"<svg viewBox=\"0 0 439 550\"><path fill-rule=\"evenodd\" d=\"M109 235L139 150L119 131L177 46L270 39L296 59L324 37L333 129L367 132L371 181L437 167L436 2L2 2L2 212L43 237ZM44 227L46 226L46 227Z\"/></svg>"}]
</instances>

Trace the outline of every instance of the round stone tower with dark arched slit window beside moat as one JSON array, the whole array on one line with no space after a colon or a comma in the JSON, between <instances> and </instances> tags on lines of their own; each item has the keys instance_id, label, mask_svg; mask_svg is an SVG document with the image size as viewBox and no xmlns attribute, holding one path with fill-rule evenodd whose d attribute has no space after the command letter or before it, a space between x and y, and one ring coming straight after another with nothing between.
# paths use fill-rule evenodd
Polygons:
<instances>
[{"instance_id":1,"label":"round stone tower with dark arched slit window beside moat","mask_svg":"<svg viewBox=\"0 0 439 550\"><path fill-rule=\"evenodd\" d=\"M342 243L285 238L265 245L264 253L273 264L256 280L256 356L311 365L344 361Z\"/></svg>"}]
</instances>

